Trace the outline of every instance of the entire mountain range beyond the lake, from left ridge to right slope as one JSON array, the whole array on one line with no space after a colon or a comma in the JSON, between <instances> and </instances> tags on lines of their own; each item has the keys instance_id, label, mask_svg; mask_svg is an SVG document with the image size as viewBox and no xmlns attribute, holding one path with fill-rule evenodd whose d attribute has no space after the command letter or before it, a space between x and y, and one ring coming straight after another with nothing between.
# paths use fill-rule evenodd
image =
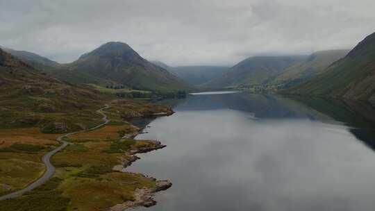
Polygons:
<instances>
[{"instance_id":1,"label":"entire mountain range beyond the lake, from left ridge to right slope","mask_svg":"<svg viewBox=\"0 0 375 211\"><path fill-rule=\"evenodd\" d=\"M163 62L149 62L122 42L103 44L69 64L59 64L27 51L5 51L41 69L47 76L72 84L154 92L240 88L375 101L375 33L351 51L318 51L310 56L254 56L231 68L170 67Z\"/></svg>"}]
</instances>

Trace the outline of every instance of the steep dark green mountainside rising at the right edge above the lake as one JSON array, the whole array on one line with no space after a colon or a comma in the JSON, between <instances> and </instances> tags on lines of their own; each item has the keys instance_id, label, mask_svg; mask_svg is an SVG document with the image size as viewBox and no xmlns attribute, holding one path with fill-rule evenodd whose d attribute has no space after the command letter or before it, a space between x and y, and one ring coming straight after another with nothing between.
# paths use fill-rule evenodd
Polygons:
<instances>
[{"instance_id":1,"label":"steep dark green mountainside rising at the right edge above the lake","mask_svg":"<svg viewBox=\"0 0 375 211\"><path fill-rule=\"evenodd\" d=\"M375 33L367 36L323 74L287 92L375 101Z\"/></svg>"}]
</instances>

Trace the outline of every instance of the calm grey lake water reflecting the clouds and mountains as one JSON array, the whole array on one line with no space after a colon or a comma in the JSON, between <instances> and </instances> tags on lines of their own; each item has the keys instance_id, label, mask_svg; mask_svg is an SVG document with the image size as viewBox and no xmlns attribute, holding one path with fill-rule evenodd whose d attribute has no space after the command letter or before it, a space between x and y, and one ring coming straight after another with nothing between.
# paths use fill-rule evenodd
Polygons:
<instances>
[{"instance_id":1,"label":"calm grey lake water reflecting the clouds and mountains","mask_svg":"<svg viewBox=\"0 0 375 211\"><path fill-rule=\"evenodd\" d=\"M176 113L137 137L167 147L128 171L173 187L137 210L375 210L371 105L244 93L167 103Z\"/></svg>"}]
</instances>

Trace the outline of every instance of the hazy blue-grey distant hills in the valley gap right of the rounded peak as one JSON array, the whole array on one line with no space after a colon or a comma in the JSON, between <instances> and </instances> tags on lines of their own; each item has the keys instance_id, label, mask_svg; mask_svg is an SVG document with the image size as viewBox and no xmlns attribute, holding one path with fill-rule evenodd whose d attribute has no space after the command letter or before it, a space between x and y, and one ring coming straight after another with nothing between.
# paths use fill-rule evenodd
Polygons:
<instances>
[{"instance_id":1,"label":"hazy blue-grey distant hills in the valley gap right of the rounded peak","mask_svg":"<svg viewBox=\"0 0 375 211\"><path fill-rule=\"evenodd\" d=\"M181 67L170 67L160 61L153 61L155 65L163 67L168 71L172 72L178 78L190 85L200 86L208 81L221 76L228 67L222 66L181 66Z\"/></svg>"}]
</instances>

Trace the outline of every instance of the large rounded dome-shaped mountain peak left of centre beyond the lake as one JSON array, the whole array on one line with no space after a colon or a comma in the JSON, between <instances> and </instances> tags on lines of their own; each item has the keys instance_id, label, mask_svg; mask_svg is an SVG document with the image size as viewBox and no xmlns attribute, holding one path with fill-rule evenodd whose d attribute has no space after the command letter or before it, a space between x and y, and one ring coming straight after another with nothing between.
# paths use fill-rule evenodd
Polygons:
<instances>
[{"instance_id":1,"label":"large rounded dome-shaped mountain peak left of centre beyond the lake","mask_svg":"<svg viewBox=\"0 0 375 211\"><path fill-rule=\"evenodd\" d=\"M125 85L135 90L173 92L190 89L180 78L153 65L122 42L103 44L54 71L52 76L71 83Z\"/></svg>"}]
</instances>

